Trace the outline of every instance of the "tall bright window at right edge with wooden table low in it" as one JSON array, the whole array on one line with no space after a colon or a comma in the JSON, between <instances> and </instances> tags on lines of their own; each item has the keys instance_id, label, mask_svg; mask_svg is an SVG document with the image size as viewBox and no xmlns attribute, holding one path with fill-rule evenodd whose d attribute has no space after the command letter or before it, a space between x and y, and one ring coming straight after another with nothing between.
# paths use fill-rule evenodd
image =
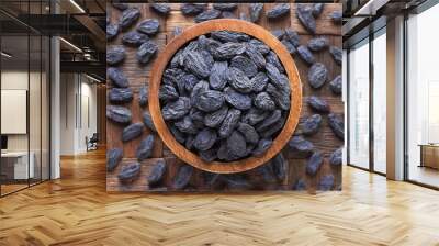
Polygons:
<instances>
[{"instance_id":1,"label":"tall bright window at right edge with wooden table low in it","mask_svg":"<svg viewBox=\"0 0 439 246\"><path fill-rule=\"evenodd\" d=\"M408 179L439 187L439 4L407 21Z\"/></svg>"}]
</instances>

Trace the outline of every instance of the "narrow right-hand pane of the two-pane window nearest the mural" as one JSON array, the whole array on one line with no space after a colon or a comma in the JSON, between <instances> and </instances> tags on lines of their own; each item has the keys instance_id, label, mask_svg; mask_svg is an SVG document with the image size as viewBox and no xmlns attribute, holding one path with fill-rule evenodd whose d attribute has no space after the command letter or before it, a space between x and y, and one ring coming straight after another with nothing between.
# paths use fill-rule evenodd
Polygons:
<instances>
[{"instance_id":1,"label":"narrow right-hand pane of the two-pane window nearest the mural","mask_svg":"<svg viewBox=\"0 0 439 246\"><path fill-rule=\"evenodd\" d=\"M381 35L380 35L381 34ZM373 168L386 172L386 38L373 40Z\"/></svg>"}]
</instances>

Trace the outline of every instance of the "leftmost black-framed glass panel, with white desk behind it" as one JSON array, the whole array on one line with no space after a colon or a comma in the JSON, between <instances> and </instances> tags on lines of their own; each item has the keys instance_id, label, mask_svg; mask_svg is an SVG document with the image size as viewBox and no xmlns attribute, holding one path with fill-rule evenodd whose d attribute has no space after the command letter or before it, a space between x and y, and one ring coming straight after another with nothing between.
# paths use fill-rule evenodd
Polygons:
<instances>
[{"instance_id":1,"label":"leftmost black-framed glass panel, with white desk behind it","mask_svg":"<svg viewBox=\"0 0 439 246\"><path fill-rule=\"evenodd\" d=\"M1 175L2 194L27 187L34 177L29 166L27 98L29 36L1 37Z\"/></svg>"}]
</instances>

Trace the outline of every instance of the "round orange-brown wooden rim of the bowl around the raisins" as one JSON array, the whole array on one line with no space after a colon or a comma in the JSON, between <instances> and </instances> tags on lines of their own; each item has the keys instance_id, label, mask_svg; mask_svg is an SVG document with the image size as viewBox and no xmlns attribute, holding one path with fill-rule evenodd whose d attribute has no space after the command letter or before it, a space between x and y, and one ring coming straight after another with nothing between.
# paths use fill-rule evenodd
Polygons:
<instances>
[{"instance_id":1,"label":"round orange-brown wooden rim of the bowl around the raisins","mask_svg":"<svg viewBox=\"0 0 439 246\"><path fill-rule=\"evenodd\" d=\"M213 31L241 32L262 41L278 55L283 67L285 68L291 88L290 112L282 131L273 139L271 147L267 149L267 152L262 156L248 157L236 161L204 161L198 155L190 152L183 145L176 141L161 116L158 91L160 88L161 76L166 67L168 66L168 63L172 59L172 56L188 42L199 37L200 35L207 34ZM301 108L302 83L294 60L292 59L286 48L282 45L282 43L278 41L278 38L275 38L270 32L268 32L263 27L252 24L250 22L234 19L221 19L195 24L184 30L183 33L171 40L169 44L166 45L166 47L160 52L159 56L154 63L151 79L149 81L149 112L151 114L154 125L157 128L157 133L177 157L192 165L193 167L206 171L218 174L240 172L256 168L270 160L280 150L282 150L284 145L291 138L299 122Z\"/></svg>"}]
</instances>

